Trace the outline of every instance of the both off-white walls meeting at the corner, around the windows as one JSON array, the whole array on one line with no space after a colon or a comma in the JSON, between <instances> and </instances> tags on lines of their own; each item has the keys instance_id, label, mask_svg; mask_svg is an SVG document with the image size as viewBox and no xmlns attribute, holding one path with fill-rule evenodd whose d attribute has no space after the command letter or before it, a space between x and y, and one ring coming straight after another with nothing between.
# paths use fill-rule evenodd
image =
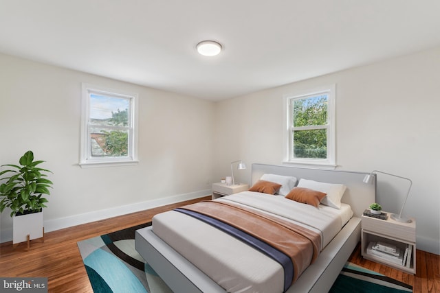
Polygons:
<instances>
[{"instance_id":1,"label":"both off-white walls meeting at the corner, around the windows","mask_svg":"<svg viewBox=\"0 0 440 293\"><path fill-rule=\"evenodd\" d=\"M54 189L45 209L52 231L209 194L234 172L250 181L252 163L283 161L283 95L336 84L338 169L413 180L404 210L417 218L417 248L440 253L440 48L212 103L0 54L0 165L26 150L47 161ZM78 167L81 82L140 96L140 163ZM401 206L406 182L379 175L377 201ZM3 213L0 242L12 220Z\"/></svg>"}]
</instances>

